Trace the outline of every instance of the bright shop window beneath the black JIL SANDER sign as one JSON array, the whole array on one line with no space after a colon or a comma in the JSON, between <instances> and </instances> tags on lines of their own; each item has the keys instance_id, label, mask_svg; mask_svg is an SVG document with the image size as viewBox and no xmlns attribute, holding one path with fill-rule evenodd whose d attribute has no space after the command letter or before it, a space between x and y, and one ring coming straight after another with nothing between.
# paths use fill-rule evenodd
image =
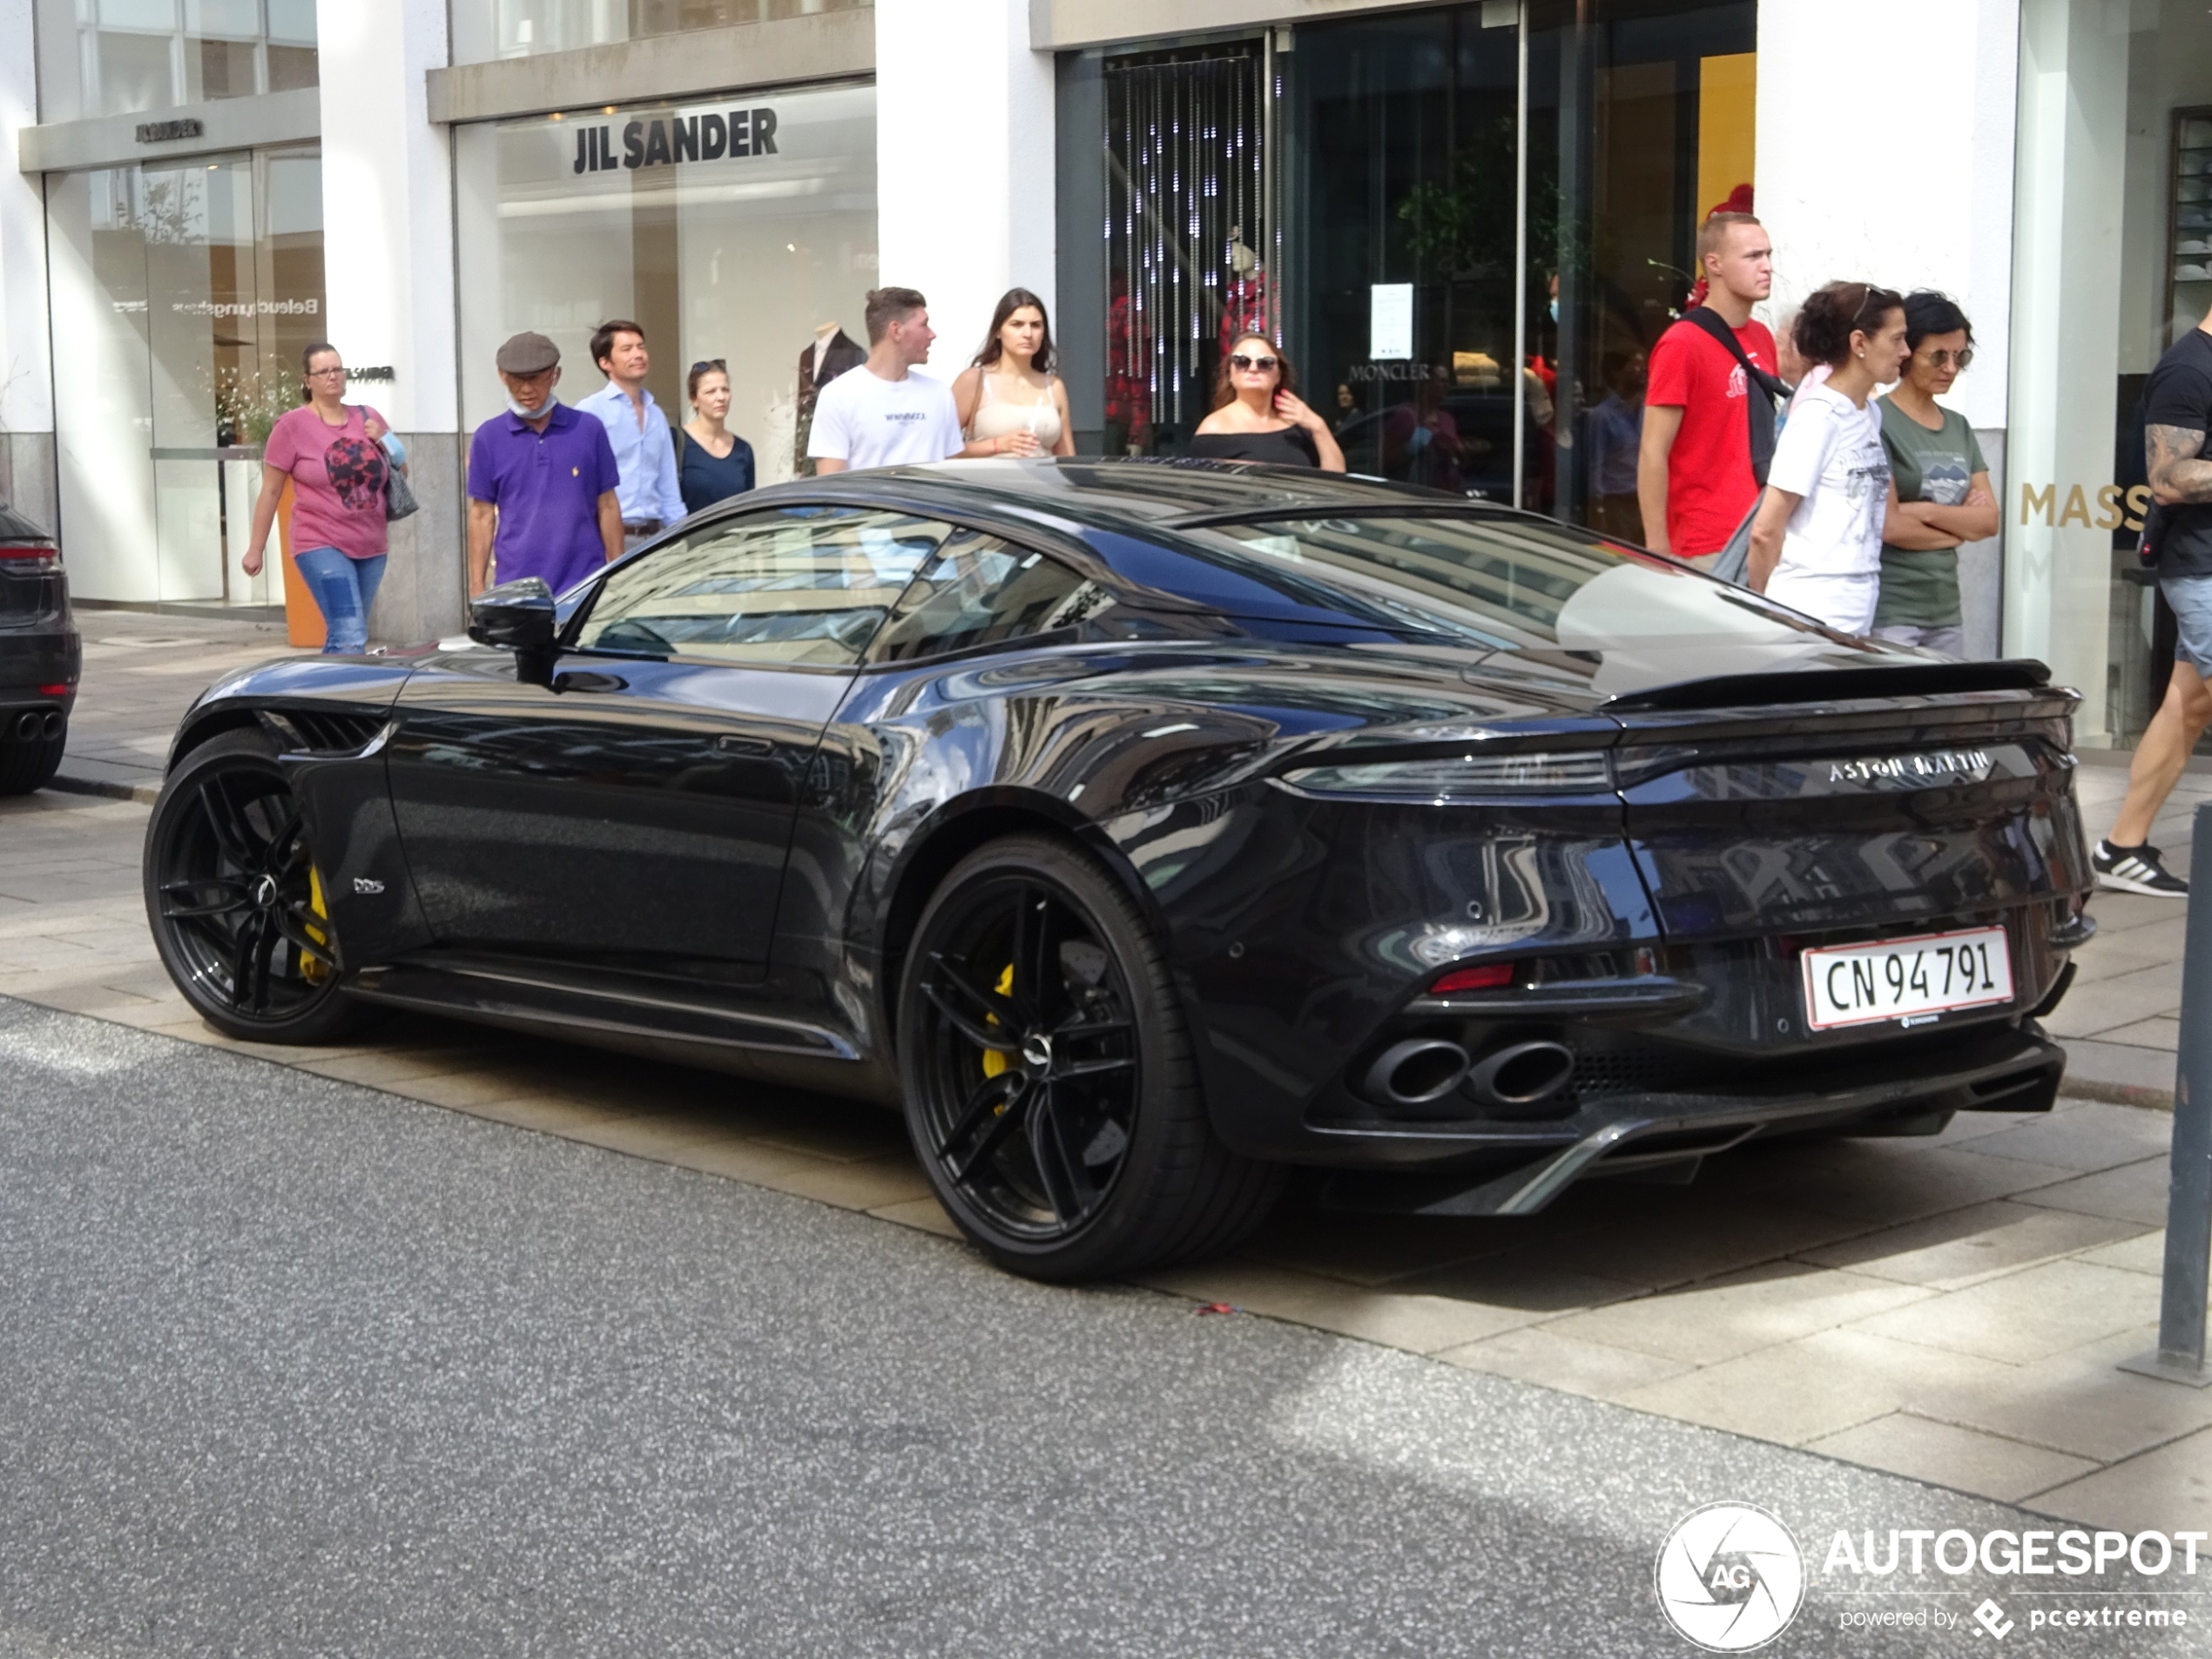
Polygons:
<instances>
[{"instance_id":1,"label":"bright shop window beneath the black JIL SANDER sign","mask_svg":"<svg viewBox=\"0 0 2212 1659\"><path fill-rule=\"evenodd\" d=\"M690 418L688 367L723 358L730 429L759 480L801 471L816 380L867 341L874 88L487 122L458 128L453 153L471 425L507 407L493 356L509 334L560 345L560 396L575 403L604 385L593 330L619 316L646 330L670 420Z\"/></svg>"}]
</instances>

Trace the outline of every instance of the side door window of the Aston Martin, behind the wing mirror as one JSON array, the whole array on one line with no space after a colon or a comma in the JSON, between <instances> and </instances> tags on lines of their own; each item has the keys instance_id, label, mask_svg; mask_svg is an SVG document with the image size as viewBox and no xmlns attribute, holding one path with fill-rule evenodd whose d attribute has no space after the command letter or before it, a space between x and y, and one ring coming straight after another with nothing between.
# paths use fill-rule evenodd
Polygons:
<instances>
[{"instance_id":1,"label":"side door window of the Aston Martin, behind the wing mirror","mask_svg":"<svg viewBox=\"0 0 2212 1659\"><path fill-rule=\"evenodd\" d=\"M856 664L951 533L938 520L856 507L719 520L608 571L571 644L633 657Z\"/></svg>"}]
</instances>

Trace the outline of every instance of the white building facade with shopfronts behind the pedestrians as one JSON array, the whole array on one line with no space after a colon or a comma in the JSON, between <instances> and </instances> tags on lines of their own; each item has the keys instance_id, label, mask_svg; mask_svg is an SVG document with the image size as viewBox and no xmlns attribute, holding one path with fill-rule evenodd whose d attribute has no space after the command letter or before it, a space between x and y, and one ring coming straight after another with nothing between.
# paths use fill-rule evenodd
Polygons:
<instances>
[{"instance_id":1,"label":"white building facade with shopfronts behind the pedestrians","mask_svg":"<svg viewBox=\"0 0 2212 1659\"><path fill-rule=\"evenodd\" d=\"M1860 84L1885 40L1927 73ZM239 555L307 341L416 460L398 639L458 622L500 338L575 398L635 319L677 418L723 363L779 480L883 281L945 376L1044 294L1084 451L1172 453L1261 327L1356 469L1635 538L1646 356L1750 199L1770 321L1832 276L1973 316L1971 646L2079 686L2086 748L2170 657L2132 418L2212 305L2181 0L0 0L0 493L95 602L281 602Z\"/></svg>"}]
</instances>

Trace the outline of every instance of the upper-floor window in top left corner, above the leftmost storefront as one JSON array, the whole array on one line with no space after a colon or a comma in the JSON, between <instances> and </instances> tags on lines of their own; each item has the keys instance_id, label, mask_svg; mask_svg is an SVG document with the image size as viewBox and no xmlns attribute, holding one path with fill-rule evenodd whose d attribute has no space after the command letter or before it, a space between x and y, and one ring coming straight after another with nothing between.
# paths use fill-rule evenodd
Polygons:
<instances>
[{"instance_id":1,"label":"upper-floor window in top left corner, above the leftmost storefront","mask_svg":"<svg viewBox=\"0 0 2212 1659\"><path fill-rule=\"evenodd\" d=\"M316 84L314 0L35 0L40 119Z\"/></svg>"}]
</instances>

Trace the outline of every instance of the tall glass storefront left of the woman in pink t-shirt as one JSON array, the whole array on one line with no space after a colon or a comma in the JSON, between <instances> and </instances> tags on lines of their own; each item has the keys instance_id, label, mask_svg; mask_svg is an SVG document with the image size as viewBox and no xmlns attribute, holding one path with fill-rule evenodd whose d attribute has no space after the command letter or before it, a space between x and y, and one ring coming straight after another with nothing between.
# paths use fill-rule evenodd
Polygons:
<instances>
[{"instance_id":1,"label":"tall glass storefront left of the woman in pink t-shirt","mask_svg":"<svg viewBox=\"0 0 2212 1659\"><path fill-rule=\"evenodd\" d=\"M314 150L46 181L62 549L86 599L257 606L261 445L323 332Z\"/></svg>"}]
</instances>

